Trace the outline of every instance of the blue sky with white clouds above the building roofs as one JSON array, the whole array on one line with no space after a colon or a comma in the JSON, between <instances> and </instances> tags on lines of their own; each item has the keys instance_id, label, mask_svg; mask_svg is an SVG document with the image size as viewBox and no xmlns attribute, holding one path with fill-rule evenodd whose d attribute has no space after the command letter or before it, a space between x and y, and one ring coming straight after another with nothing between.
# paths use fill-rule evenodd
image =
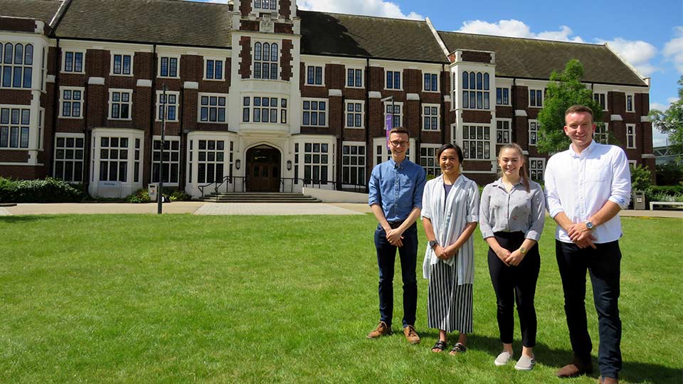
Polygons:
<instances>
[{"instance_id":1,"label":"blue sky with white clouds above the building roofs","mask_svg":"<svg viewBox=\"0 0 683 384\"><path fill-rule=\"evenodd\" d=\"M227 0L196 0L227 3ZM300 9L392 18L430 18L440 31L607 42L652 78L650 107L665 110L677 100L683 75L682 0L493 1L297 0ZM466 6L465 4L470 4ZM646 5L647 8L644 8ZM655 130L655 146L664 137Z\"/></svg>"}]
</instances>

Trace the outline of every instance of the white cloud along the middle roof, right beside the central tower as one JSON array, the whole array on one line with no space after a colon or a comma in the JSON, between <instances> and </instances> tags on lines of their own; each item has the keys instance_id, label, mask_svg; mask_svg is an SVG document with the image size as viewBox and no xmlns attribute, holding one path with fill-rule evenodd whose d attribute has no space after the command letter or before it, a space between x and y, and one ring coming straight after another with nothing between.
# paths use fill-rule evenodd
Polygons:
<instances>
[{"instance_id":1,"label":"white cloud along the middle roof, right beside the central tower","mask_svg":"<svg viewBox=\"0 0 683 384\"><path fill-rule=\"evenodd\" d=\"M424 20L424 16L411 12L404 14L401 7L390 1L382 0L297 0L299 9L334 12L338 14L355 14L381 16L389 18L410 18Z\"/></svg>"}]
</instances>

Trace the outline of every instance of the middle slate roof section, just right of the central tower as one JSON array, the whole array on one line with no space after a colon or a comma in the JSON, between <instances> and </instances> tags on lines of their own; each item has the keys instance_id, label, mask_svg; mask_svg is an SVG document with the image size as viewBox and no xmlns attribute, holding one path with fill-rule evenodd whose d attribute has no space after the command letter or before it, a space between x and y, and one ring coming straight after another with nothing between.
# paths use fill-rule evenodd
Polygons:
<instances>
[{"instance_id":1,"label":"middle slate roof section, just right of the central tower","mask_svg":"<svg viewBox=\"0 0 683 384\"><path fill-rule=\"evenodd\" d=\"M425 21L298 11L301 53L446 63Z\"/></svg>"}]
</instances>

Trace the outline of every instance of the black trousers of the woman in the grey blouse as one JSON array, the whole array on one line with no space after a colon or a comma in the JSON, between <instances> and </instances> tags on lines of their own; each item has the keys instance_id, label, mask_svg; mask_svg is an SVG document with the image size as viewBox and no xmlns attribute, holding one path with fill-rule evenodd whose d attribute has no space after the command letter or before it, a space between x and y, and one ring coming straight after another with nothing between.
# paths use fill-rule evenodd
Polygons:
<instances>
[{"instance_id":1,"label":"black trousers of the woman in the grey blouse","mask_svg":"<svg viewBox=\"0 0 683 384\"><path fill-rule=\"evenodd\" d=\"M524 233L494 233L498 244L510 252L519 249L524 242ZM536 281L541 270L539 245L535 244L526 252L517 266L507 266L489 247L489 274L498 303L498 330L502 343L512 343L514 333L514 303L517 302L521 344L526 347L536 345Z\"/></svg>"}]
</instances>

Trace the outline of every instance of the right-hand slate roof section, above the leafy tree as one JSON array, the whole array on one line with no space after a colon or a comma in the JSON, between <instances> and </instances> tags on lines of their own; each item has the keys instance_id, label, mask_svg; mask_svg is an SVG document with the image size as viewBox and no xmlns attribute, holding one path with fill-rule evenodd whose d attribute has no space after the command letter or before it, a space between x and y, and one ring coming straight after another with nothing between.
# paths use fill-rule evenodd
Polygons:
<instances>
[{"instance_id":1,"label":"right-hand slate roof section, above the leafy tree","mask_svg":"<svg viewBox=\"0 0 683 384\"><path fill-rule=\"evenodd\" d=\"M496 76L549 79L553 70L563 70L568 60L583 64L583 81L646 86L623 61L603 45L563 41L509 38L459 32L439 32L449 52L457 49L489 50L496 53Z\"/></svg>"}]
</instances>

